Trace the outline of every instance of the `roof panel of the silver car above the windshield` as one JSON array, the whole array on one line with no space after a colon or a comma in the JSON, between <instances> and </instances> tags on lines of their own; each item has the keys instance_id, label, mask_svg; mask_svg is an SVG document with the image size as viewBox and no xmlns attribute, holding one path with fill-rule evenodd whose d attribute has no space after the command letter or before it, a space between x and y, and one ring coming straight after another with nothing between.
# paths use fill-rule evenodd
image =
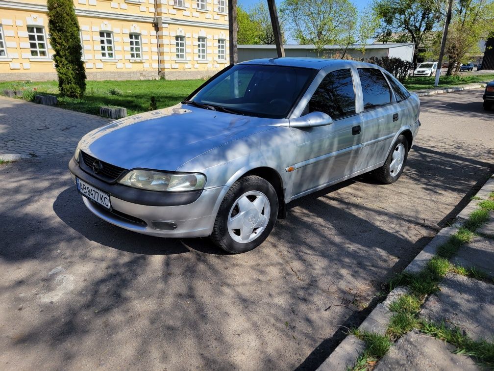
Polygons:
<instances>
[{"instance_id":1,"label":"roof panel of the silver car above the windshield","mask_svg":"<svg viewBox=\"0 0 494 371\"><path fill-rule=\"evenodd\" d=\"M379 68L375 64L359 62L355 60L346 59L329 59L329 58L302 58L302 57L284 57L284 58L262 58L252 59L239 64L260 64L260 65L273 65L273 66L288 66L288 67L304 67L321 70L328 66L348 66L354 65L356 67L373 67Z\"/></svg>"}]
</instances>

